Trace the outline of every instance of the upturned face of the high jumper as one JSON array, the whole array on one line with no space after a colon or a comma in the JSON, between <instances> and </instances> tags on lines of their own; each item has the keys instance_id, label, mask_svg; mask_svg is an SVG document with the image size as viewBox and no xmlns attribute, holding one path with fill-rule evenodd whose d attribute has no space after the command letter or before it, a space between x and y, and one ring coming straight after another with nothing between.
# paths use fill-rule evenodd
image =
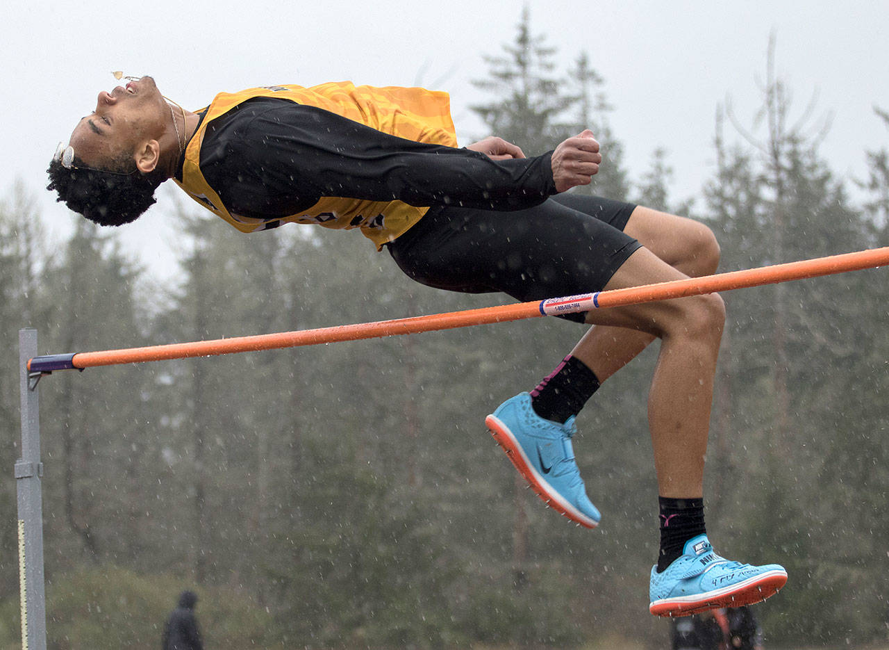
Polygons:
<instances>
[{"instance_id":1,"label":"upturned face of the high jumper","mask_svg":"<svg viewBox=\"0 0 889 650\"><path fill-rule=\"evenodd\" d=\"M86 166L102 168L121 154L135 158L146 142L160 138L171 119L155 80L141 77L99 93L95 110L77 123L69 144Z\"/></svg>"}]
</instances>

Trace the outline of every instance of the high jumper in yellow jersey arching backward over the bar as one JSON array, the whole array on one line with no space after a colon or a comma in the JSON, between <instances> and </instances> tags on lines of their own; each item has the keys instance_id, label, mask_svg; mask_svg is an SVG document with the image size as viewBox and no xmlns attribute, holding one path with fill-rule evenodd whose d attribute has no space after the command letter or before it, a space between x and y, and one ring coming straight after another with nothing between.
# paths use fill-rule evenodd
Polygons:
<instances>
[{"instance_id":1,"label":"high jumper in yellow jersey arching backward over the bar","mask_svg":"<svg viewBox=\"0 0 889 650\"><path fill-rule=\"evenodd\" d=\"M99 93L49 168L49 189L97 223L131 222L172 178L242 232L282 223L360 229L423 284L521 301L714 272L699 223L565 194L602 156L584 131L525 158L490 137L458 149L448 96L348 82L220 93L204 110L168 103L151 77ZM595 527L574 460L574 418L600 383L655 337L648 415L661 549L650 611L745 605L787 581L779 565L725 560L704 528L703 466L725 307L716 295L567 316L595 325L530 393L485 420L541 499Z\"/></svg>"}]
</instances>

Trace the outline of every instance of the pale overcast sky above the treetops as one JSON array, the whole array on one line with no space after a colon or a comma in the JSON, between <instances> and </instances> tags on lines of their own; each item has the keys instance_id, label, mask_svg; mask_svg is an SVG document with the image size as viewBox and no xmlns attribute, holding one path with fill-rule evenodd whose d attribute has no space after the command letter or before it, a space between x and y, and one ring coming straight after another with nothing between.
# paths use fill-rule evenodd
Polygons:
<instances>
[{"instance_id":1,"label":"pale overcast sky above the treetops","mask_svg":"<svg viewBox=\"0 0 889 650\"><path fill-rule=\"evenodd\" d=\"M526 4L534 33L558 48L559 61L567 66L586 52L604 77L614 107L609 119L631 174L642 175L656 147L668 151L674 199L697 194L713 171L717 103L731 95L741 118L752 118L772 32L778 72L796 98L794 114L813 92L816 114L835 114L821 152L837 173L863 176L864 150L889 140L873 112L875 105L889 109L889 4L881 0ZM8 3L0 39L6 89L0 197L8 198L20 180L38 200L47 230L68 232L74 217L44 191L44 170L99 91L116 85L109 74L116 69L154 76L164 94L189 109L220 91L255 85L350 79L434 86L452 93L466 144L485 135L468 110L483 97L470 81L485 77L485 53L501 53L512 42L522 6L506 0ZM168 188L164 197L171 194ZM235 232L221 220L219 227ZM174 233L163 209L124 228L141 262L162 273L171 268L165 242Z\"/></svg>"}]
</instances>

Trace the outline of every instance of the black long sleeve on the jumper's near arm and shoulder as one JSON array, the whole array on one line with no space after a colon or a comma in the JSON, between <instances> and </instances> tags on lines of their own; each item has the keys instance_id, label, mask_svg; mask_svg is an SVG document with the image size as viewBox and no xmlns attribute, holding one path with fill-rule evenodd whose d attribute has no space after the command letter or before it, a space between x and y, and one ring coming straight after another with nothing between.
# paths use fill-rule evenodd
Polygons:
<instances>
[{"instance_id":1,"label":"black long sleeve on the jumper's near arm and shoulder","mask_svg":"<svg viewBox=\"0 0 889 650\"><path fill-rule=\"evenodd\" d=\"M260 219L298 214L324 196L516 210L555 193L549 153L495 161L274 97L208 125L201 171L229 211Z\"/></svg>"}]
</instances>

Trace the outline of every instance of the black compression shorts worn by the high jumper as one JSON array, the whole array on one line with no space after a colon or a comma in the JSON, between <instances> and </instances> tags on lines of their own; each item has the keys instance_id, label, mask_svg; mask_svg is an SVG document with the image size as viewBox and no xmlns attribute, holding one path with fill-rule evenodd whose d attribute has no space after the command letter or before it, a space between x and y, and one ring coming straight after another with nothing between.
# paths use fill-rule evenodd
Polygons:
<instances>
[{"instance_id":1,"label":"black compression shorts worn by the high jumper","mask_svg":"<svg viewBox=\"0 0 889 650\"><path fill-rule=\"evenodd\" d=\"M521 302L591 293L640 248L623 232L635 207L573 194L515 212L432 207L388 249L429 287L501 291ZM582 322L585 314L565 318Z\"/></svg>"}]
</instances>

